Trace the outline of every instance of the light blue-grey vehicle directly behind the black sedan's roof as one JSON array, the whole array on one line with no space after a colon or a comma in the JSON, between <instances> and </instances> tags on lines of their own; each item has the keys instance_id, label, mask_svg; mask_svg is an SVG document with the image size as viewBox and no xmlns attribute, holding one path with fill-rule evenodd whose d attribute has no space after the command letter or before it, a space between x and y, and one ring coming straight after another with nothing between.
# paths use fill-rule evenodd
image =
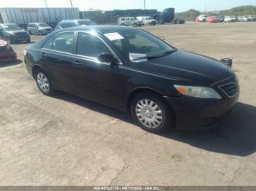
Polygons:
<instances>
[{"instance_id":1,"label":"light blue-grey vehicle directly behind the black sedan's roof","mask_svg":"<svg viewBox=\"0 0 256 191\"><path fill-rule=\"evenodd\" d=\"M97 26L97 23L94 23L89 19L61 20L54 30L56 31L62 28L71 28L76 26Z\"/></svg>"}]
</instances>

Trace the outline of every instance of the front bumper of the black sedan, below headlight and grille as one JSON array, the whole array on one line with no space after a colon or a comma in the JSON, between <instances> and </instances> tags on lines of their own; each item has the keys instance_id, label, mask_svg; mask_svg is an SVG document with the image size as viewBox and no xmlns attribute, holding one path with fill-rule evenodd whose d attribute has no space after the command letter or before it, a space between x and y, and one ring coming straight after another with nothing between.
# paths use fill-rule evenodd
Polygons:
<instances>
[{"instance_id":1,"label":"front bumper of the black sedan, below headlight and grille","mask_svg":"<svg viewBox=\"0 0 256 191\"><path fill-rule=\"evenodd\" d=\"M182 130L207 130L216 124L238 101L239 93L233 98L201 99L183 96L165 97L176 114L176 128Z\"/></svg>"}]
</instances>

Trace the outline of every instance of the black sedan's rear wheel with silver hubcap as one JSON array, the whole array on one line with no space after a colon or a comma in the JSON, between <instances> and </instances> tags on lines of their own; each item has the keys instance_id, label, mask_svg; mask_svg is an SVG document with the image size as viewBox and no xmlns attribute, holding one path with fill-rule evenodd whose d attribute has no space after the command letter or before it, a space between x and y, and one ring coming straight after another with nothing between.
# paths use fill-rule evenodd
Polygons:
<instances>
[{"instance_id":1,"label":"black sedan's rear wheel with silver hubcap","mask_svg":"<svg viewBox=\"0 0 256 191\"><path fill-rule=\"evenodd\" d=\"M37 82L37 86L39 87L39 90L45 94L45 95L53 95L55 92L53 89L53 86L50 82L50 79L47 74L45 74L45 71L37 70L35 74L35 79Z\"/></svg>"}]
</instances>

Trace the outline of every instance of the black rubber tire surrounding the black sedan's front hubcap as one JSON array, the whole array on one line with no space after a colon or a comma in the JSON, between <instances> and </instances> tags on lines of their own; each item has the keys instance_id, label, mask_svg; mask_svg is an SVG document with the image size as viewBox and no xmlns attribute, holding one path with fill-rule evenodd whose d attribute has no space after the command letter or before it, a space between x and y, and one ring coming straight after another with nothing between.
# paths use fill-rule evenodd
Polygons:
<instances>
[{"instance_id":1,"label":"black rubber tire surrounding the black sedan's front hubcap","mask_svg":"<svg viewBox=\"0 0 256 191\"><path fill-rule=\"evenodd\" d=\"M149 128L148 126L143 124L143 122L140 122L139 118L137 117L136 106L142 100L153 101L155 104L153 106L157 105L159 107L160 111L162 112L162 114L161 114L162 122L160 122L159 125L155 126L154 128ZM138 108L139 107L137 106L137 109ZM143 128L144 130L147 130L149 132L152 132L152 133L163 132L165 130L170 129L171 127L174 127L174 125L175 125L175 117L174 117L172 109L170 109L170 106L168 106L167 103L165 103L165 101L159 95L157 95L155 93L147 93L146 92L146 93L139 93L138 95L135 95L135 98L133 98L133 100L132 100L130 109L131 109L133 119L136 122L138 122L138 125L140 125L141 128ZM152 118L153 118L153 116L152 116ZM146 121L144 120L144 122L146 122ZM151 123L153 124L153 122L151 122ZM149 122L148 122L148 125L149 125Z\"/></svg>"}]
</instances>

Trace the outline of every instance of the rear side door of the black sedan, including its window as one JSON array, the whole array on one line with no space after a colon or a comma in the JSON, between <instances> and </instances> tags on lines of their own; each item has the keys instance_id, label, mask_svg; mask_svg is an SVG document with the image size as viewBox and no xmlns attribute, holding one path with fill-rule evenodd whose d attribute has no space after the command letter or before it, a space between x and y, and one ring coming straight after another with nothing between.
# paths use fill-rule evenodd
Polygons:
<instances>
[{"instance_id":1,"label":"rear side door of the black sedan, including its window","mask_svg":"<svg viewBox=\"0 0 256 191\"><path fill-rule=\"evenodd\" d=\"M60 32L49 39L39 52L41 65L50 75L53 86L71 93L75 91L72 76L74 42L74 31Z\"/></svg>"}]
</instances>

